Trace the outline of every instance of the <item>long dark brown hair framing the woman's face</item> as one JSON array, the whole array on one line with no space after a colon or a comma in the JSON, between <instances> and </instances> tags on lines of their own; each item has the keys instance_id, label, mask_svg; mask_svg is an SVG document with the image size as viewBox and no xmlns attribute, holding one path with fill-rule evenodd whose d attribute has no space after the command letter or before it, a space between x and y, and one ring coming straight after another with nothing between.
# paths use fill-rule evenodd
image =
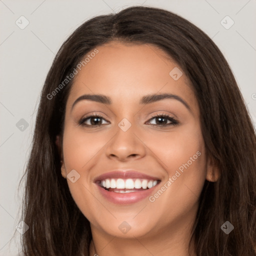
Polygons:
<instances>
[{"instance_id":1,"label":"long dark brown hair framing the woman's face","mask_svg":"<svg viewBox=\"0 0 256 256\"><path fill-rule=\"evenodd\" d=\"M88 255L89 221L61 176L54 143L63 131L73 78L52 91L85 54L111 40L158 46L191 81L206 150L221 173L216 182L205 180L199 198L192 232L197 255L255 256L256 136L232 71L218 47L195 25L172 12L143 6L84 22L53 60L41 91L23 176L22 220L29 226L22 235L24 255ZM227 220L234 226L229 234L220 228Z\"/></svg>"}]
</instances>

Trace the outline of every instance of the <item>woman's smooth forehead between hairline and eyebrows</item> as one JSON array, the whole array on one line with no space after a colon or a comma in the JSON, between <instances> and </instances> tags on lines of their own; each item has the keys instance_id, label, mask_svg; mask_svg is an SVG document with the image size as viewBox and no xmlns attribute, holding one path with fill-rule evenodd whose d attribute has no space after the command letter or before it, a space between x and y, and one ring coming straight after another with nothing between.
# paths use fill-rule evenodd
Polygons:
<instances>
[{"instance_id":1,"label":"woman's smooth forehead between hairline and eyebrows","mask_svg":"<svg viewBox=\"0 0 256 256\"><path fill-rule=\"evenodd\" d=\"M96 49L96 54L84 56L87 61L74 77L69 101L85 93L100 93L118 103L159 92L179 94L196 103L189 79L157 46L112 41Z\"/></svg>"}]
</instances>

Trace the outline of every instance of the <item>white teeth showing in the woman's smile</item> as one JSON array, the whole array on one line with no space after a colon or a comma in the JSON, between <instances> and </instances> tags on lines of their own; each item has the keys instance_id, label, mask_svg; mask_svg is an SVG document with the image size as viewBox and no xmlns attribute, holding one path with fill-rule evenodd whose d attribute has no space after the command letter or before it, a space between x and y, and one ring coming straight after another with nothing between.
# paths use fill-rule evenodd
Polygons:
<instances>
[{"instance_id":1,"label":"white teeth showing in the woman's smile","mask_svg":"<svg viewBox=\"0 0 256 256\"><path fill-rule=\"evenodd\" d=\"M148 180L148 179L132 179L132 178L127 178L127 179L122 179L122 178L106 178L104 180L101 180L100 182L102 187L105 188L117 188L117 189L147 189L155 186L157 184L157 180ZM120 193L128 193L128 192L133 192L136 190L120 190L117 192Z\"/></svg>"}]
</instances>

